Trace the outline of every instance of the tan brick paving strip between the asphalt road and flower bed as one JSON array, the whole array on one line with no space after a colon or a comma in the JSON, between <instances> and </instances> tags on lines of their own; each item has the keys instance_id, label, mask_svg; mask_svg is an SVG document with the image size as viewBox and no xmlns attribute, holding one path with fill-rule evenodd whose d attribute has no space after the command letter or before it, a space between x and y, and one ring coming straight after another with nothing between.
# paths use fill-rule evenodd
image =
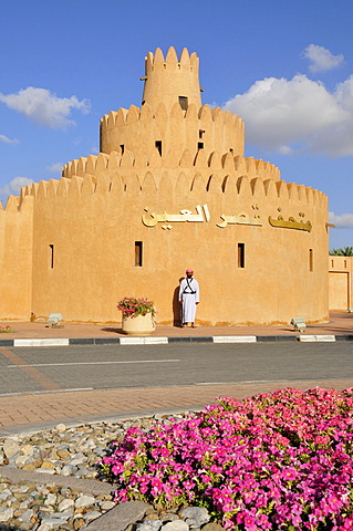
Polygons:
<instances>
[{"instance_id":1,"label":"tan brick paving strip between the asphalt road and flower bed","mask_svg":"<svg viewBox=\"0 0 353 531\"><path fill-rule=\"evenodd\" d=\"M297 381L294 388L309 386L343 389L351 379ZM11 431L53 426L59 423L81 423L113 419L120 416L152 415L203 408L219 396L238 399L257 393L288 387L288 382L228 384L207 386L175 386L154 388L124 388L86 392L41 393L0 397L0 435Z\"/></svg>"}]
</instances>

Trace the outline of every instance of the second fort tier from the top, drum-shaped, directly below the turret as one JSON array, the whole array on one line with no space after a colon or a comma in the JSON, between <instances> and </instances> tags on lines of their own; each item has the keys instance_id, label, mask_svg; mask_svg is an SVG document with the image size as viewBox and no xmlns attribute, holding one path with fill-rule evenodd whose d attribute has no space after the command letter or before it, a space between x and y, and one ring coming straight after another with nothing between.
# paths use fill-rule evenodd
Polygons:
<instances>
[{"instance_id":1,"label":"second fort tier from the top, drum-shaped, directly below the turret","mask_svg":"<svg viewBox=\"0 0 353 531\"><path fill-rule=\"evenodd\" d=\"M178 103L170 107L159 103L155 110L147 103L142 108L132 105L103 116L101 121L101 152L112 150L149 153L157 148L162 155L170 149L214 150L243 155L243 121L209 105L190 104L183 112Z\"/></svg>"}]
</instances>

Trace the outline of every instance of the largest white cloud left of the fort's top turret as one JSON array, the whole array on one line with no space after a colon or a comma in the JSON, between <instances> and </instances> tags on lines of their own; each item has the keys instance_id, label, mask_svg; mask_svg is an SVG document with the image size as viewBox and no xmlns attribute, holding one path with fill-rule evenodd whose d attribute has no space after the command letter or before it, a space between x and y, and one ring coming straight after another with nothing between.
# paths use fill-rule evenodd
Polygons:
<instances>
[{"instance_id":1,"label":"largest white cloud left of the fort's top turret","mask_svg":"<svg viewBox=\"0 0 353 531\"><path fill-rule=\"evenodd\" d=\"M82 113L90 112L87 100L79 101L76 96L58 97L46 88L34 86L28 86L17 94L6 95L0 93L0 102L24 114L28 118L54 129L64 128L75 123L69 118L72 110L76 108Z\"/></svg>"}]
</instances>

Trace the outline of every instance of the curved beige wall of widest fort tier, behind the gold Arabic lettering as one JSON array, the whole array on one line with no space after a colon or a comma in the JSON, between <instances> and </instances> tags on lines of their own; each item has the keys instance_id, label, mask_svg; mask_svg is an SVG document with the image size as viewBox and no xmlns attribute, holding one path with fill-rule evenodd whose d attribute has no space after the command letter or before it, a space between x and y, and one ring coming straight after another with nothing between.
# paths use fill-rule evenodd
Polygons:
<instances>
[{"instance_id":1,"label":"curved beige wall of widest fort tier, behind the gold Arabic lettering","mask_svg":"<svg viewBox=\"0 0 353 531\"><path fill-rule=\"evenodd\" d=\"M199 324L288 323L328 319L326 198L310 188L247 177L209 180L207 171L152 174L141 185L133 173L61 179L56 192L41 184L34 209L33 312L62 312L68 321L116 322L124 295L147 296L157 322L177 321L175 295L187 267L201 287ZM178 214L207 205L210 219L146 227L150 212ZM252 206L258 206L253 210ZM148 207L148 212L145 208ZM271 227L268 217L305 214L312 231ZM63 214L64 212L64 214ZM257 212L262 226L221 223L220 215ZM299 219L299 218L298 218ZM70 238L68 238L70 235ZM143 242L143 266L135 267L135 241ZM237 247L245 243L246 267ZM54 268L49 266L54 246ZM313 249L313 271L309 267ZM39 289L41 287L41 289Z\"/></svg>"}]
</instances>

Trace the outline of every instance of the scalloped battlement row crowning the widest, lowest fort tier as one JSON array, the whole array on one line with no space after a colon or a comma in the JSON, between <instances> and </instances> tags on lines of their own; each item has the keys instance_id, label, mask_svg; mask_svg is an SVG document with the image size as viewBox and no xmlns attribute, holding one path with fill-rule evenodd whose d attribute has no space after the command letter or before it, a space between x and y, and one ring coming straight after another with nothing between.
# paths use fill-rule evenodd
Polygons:
<instances>
[{"instance_id":1,"label":"scalloped battlement row crowning the widest, lowest fort tier","mask_svg":"<svg viewBox=\"0 0 353 531\"><path fill-rule=\"evenodd\" d=\"M91 158L90 158L91 157ZM90 156L90 165L93 164L94 158ZM100 157L95 157L98 163ZM80 159L81 160L81 159ZM100 159L102 162L102 157ZM326 207L326 196L322 191L297 185L295 183L285 183L283 180L274 180L266 177L266 170L270 171L269 166L262 160L243 159L242 163L249 168L264 168L262 177L251 174L233 173L232 175L225 175L222 171L209 173L203 169L176 169L170 176L169 173L153 173L146 168L145 171L132 173L131 170L114 173L98 173L96 175L83 174L77 175L73 173L70 178L62 177L60 180L51 179L49 181L41 180L39 184L28 185L21 189L20 197L10 196L4 211L21 211L23 206L27 206L29 196L35 201L51 201L55 197L74 196L76 199L103 194L106 196L118 196L124 201L125 194L135 195L136 200L150 200L152 195L163 201L181 195L183 197L193 197L195 192L200 194L206 201L210 204L217 198L221 201L221 196L236 199L237 201L248 204L251 201L259 201L261 208L268 206L288 206L288 204L298 204L308 208L318 208L320 206ZM70 170L77 168L77 162L73 162ZM240 167L243 168L242 164ZM82 166L81 166L82 167ZM91 166L92 167L92 166ZM273 167L274 168L274 167ZM69 170L69 166L66 168ZM128 168L127 168L128 169ZM108 170L108 166L106 167ZM241 175L240 175L241 174ZM162 194L162 196L160 196ZM145 199L144 199L144 196Z\"/></svg>"}]
</instances>

